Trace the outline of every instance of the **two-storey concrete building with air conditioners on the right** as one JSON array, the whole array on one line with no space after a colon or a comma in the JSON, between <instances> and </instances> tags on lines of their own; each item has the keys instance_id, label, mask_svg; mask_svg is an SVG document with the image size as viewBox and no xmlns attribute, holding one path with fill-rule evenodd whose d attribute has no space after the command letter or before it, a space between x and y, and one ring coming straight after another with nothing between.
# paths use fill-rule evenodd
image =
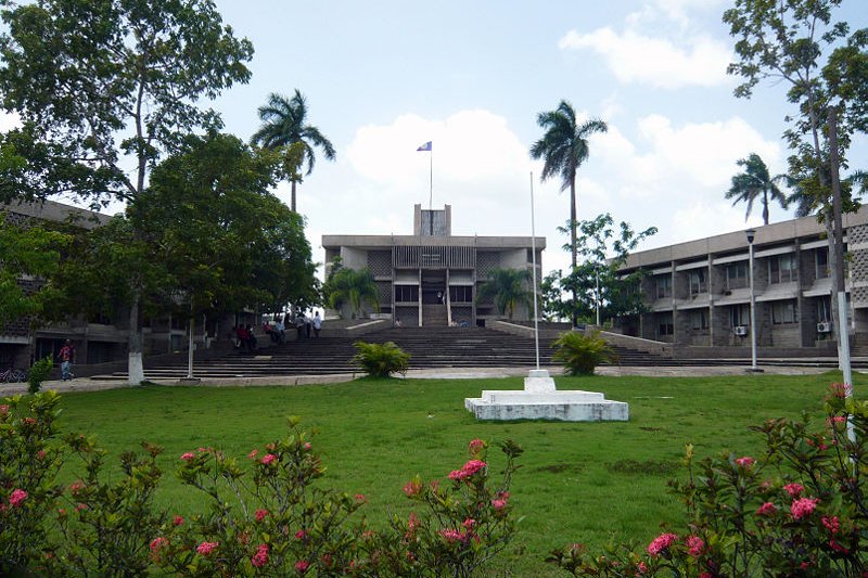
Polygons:
<instances>
[{"instance_id":1,"label":"two-storey concrete building with air conditioners on the right","mask_svg":"<svg viewBox=\"0 0 868 578\"><path fill-rule=\"evenodd\" d=\"M847 331L858 352L868 346L868 207L844 215L843 227ZM757 345L782 356L804 348L833 352L837 320L825 224L804 217L755 229ZM750 350L754 329L744 231L635 253L623 270L637 269L646 272L641 291L649 311L624 321L625 334L685 346L681 350Z\"/></svg>"}]
</instances>

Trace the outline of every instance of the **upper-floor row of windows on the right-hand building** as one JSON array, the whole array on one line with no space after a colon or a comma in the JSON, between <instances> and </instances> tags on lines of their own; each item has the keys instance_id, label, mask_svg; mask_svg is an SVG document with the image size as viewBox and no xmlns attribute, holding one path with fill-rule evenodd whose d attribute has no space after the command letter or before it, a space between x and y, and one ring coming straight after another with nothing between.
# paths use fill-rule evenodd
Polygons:
<instances>
[{"instance_id":1,"label":"upper-floor row of windows on the right-hand building","mask_svg":"<svg viewBox=\"0 0 868 578\"><path fill-rule=\"evenodd\" d=\"M825 247L820 247L814 252L816 278L824 279L829 277L829 252ZM768 282L774 283L789 283L796 281L797 264L795 255L788 253L786 255L776 255L767 259L768 267ZM750 284L748 277L748 262L739 261L726 266L726 290L732 291L737 288L746 287ZM700 293L709 292L709 271L707 269L692 269L688 271L688 290L690 295L699 295ZM655 278L656 284L656 298L665 299L672 297L672 275L658 275Z\"/></svg>"}]
</instances>

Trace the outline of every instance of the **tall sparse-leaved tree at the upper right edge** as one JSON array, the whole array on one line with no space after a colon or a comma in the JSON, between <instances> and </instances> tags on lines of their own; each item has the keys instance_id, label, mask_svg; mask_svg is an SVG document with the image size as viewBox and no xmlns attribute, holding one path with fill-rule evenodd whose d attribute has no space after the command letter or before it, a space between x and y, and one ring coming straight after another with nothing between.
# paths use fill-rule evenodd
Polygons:
<instances>
[{"instance_id":1,"label":"tall sparse-leaved tree at the upper right edge","mask_svg":"<svg viewBox=\"0 0 868 578\"><path fill-rule=\"evenodd\" d=\"M868 121L868 29L851 34L846 22L835 22L833 11L840 4L841 0L735 0L724 13L737 39L738 61L727 70L742 79L736 97L750 98L763 80L788 87L787 100L795 108L787 115L784 131L792 151L789 174L796 181L800 206L818 210L826 222L833 270L841 264L833 251L827 111L832 106L840 120L837 145L842 168L853 133L865 131ZM834 291L841 291L838 277L832 279ZM835 299L832 308L838 308Z\"/></svg>"}]
</instances>

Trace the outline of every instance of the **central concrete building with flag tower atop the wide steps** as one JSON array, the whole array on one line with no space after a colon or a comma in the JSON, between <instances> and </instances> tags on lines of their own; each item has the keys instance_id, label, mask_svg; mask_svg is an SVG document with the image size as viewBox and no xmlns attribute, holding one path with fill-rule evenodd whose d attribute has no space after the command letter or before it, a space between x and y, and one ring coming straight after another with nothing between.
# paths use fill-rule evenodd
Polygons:
<instances>
[{"instance_id":1,"label":"central concrete building with flag tower atop the wide steps","mask_svg":"<svg viewBox=\"0 0 868 578\"><path fill-rule=\"evenodd\" d=\"M500 314L492 300L477 301L480 286L496 269L531 270L534 249L538 283L546 239L455 236L449 205L416 205L412 235L323 235L322 248L327 277L335 258L343 267L371 271L383 318L404 326L485 325ZM532 314L520 306L513 319Z\"/></svg>"}]
</instances>

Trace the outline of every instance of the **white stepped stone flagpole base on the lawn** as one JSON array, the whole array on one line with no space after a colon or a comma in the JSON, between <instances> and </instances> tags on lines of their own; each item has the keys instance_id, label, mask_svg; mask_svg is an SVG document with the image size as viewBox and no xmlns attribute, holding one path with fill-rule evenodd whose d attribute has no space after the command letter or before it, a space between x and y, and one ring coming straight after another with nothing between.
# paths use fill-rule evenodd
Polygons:
<instances>
[{"instance_id":1,"label":"white stepped stone flagpole base on the lawn","mask_svg":"<svg viewBox=\"0 0 868 578\"><path fill-rule=\"evenodd\" d=\"M601 422L629 420L629 406L610 401L596 391L558 391L546 370L533 370L524 378L524 390L485 390L465 398L464 407L477 420L560 420Z\"/></svg>"}]
</instances>

